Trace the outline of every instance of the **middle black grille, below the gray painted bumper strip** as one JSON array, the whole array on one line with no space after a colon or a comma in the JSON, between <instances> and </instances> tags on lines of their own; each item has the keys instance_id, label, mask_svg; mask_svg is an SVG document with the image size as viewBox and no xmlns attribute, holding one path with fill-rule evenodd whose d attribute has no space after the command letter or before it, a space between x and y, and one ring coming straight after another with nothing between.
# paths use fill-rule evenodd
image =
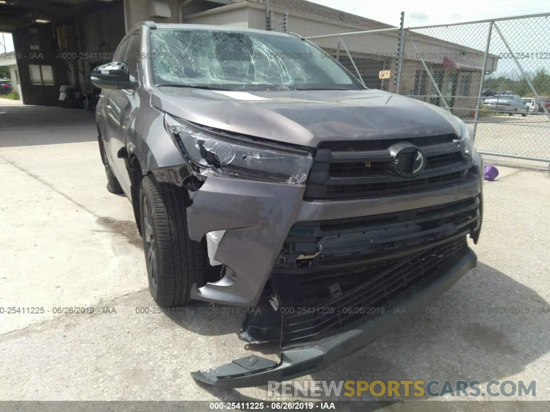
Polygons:
<instances>
[{"instance_id":1,"label":"middle black grille, below the gray painted bumper strip","mask_svg":"<svg viewBox=\"0 0 550 412\"><path fill-rule=\"evenodd\" d=\"M316 273L373 263L464 237L479 224L479 203L474 197L394 213L296 222L274 273Z\"/></svg>"}]
</instances>

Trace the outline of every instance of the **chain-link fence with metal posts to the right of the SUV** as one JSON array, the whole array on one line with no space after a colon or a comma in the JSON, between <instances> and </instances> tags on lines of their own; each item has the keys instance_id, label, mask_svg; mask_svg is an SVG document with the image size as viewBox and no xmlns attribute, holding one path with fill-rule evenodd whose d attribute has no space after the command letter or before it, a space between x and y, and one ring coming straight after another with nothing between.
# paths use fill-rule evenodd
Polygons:
<instances>
[{"instance_id":1,"label":"chain-link fence with metal posts to the right of the SUV","mask_svg":"<svg viewBox=\"0 0 550 412\"><path fill-rule=\"evenodd\" d=\"M550 162L549 16L308 40L365 86L438 105L463 119L474 129L481 153Z\"/></svg>"}]
</instances>

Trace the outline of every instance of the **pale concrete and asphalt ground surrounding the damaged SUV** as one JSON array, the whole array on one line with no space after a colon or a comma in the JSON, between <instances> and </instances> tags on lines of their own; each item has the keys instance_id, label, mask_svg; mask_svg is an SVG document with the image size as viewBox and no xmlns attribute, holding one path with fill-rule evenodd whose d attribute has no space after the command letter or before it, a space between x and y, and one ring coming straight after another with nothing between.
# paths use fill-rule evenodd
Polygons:
<instances>
[{"instance_id":1,"label":"pale concrete and asphalt ground surrounding the damaged SUV","mask_svg":"<svg viewBox=\"0 0 550 412\"><path fill-rule=\"evenodd\" d=\"M256 352L235 333L241 314L205 313L205 303L152 313L141 238L130 203L105 189L93 114L0 112L0 307L45 309L0 314L0 400L272 400L265 387L224 391L189 375ZM304 379L535 380L536 399L550 400L550 311L539 309L550 308L550 175L500 168L484 196L478 268L429 313ZM485 410L505 410L493 404ZM358 410L384 406L366 405Z\"/></svg>"}]
</instances>

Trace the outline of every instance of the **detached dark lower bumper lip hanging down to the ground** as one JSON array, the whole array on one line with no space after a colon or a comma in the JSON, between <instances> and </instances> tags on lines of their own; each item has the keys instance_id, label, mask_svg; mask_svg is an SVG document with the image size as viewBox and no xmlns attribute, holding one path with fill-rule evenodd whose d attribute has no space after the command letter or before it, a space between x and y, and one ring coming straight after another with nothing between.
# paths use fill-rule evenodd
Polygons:
<instances>
[{"instance_id":1,"label":"detached dark lower bumper lip hanging down to the ground","mask_svg":"<svg viewBox=\"0 0 550 412\"><path fill-rule=\"evenodd\" d=\"M243 388L266 385L268 381L290 380L320 371L334 361L365 347L425 308L426 304L449 289L467 271L475 268L476 264L475 253L466 247L464 253L453 261L444 274L430 275L388 300L383 305L383 314L366 315L352 329L309 342L307 346L284 350L278 363L250 356L235 359L230 364L206 372L192 372L191 376L197 381L216 387Z\"/></svg>"}]
</instances>

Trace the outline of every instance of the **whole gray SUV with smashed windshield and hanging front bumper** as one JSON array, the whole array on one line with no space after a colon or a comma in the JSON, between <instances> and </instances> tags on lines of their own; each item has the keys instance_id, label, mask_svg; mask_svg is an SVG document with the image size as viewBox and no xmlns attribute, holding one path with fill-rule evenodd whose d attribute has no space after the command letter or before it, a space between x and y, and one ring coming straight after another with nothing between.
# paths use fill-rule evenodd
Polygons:
<instances>
[{"instance_id":1,"label":"whole gray SUV with smashed windshield and hanging front bumper","mask_svg":"<svg viewBox=\"0 0 550 412\"><path fill-rule=\"evenodd\" d=\"M91 81L107 187L133 205L153 299L249 308L240 338L281 345L278 362L245 357L196 380L323 369L476 266L470 128L367 89L303 38L140 23Z\"/></svg>"}]
</instances>

